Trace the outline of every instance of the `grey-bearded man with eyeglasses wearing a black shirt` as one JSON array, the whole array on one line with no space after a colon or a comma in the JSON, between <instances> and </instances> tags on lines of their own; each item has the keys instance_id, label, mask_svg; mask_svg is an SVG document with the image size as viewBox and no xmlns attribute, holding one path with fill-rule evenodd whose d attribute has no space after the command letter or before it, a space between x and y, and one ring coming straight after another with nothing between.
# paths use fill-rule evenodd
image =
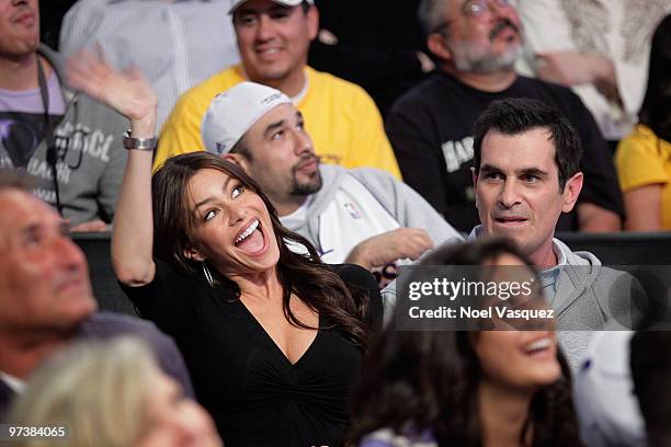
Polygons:
<instances>
[{"instance_id":1,"label":"grey-bearded man with eyeglasses wearing a black shirt","mask_svg":"<svg viewBox=\"0 0 671 447\"><path fill-rule=\"evenodd\" d=\"M622 194L606 144L570 90L519 76L522 24L508 0L423 0L419 18L437 60L434 76L391 107L386 129L403 180L457 230L478 224L471 183L473 124L493 100L533 98L557 107L584 148L584 187L558 230L618 231Z\"/></svg>"}]
</instances>

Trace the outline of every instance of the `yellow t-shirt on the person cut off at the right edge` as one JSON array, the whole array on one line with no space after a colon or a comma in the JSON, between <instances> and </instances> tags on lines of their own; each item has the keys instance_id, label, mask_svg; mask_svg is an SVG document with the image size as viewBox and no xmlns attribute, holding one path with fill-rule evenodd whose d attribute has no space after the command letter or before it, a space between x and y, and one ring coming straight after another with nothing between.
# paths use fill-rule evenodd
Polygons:
<instances>
[{"instance_id":1,"label":"yellow t-shirt on the person cut off at the right edge","mask_svg":"<svg viewBox=\"0 0 671 447\"><path fill-rule=\"evenodd\" d=\"M671 144L638 124L617 146L615 167L624 193L662 184L662 228L671 230Z\"/></svg>"}]
</instances>

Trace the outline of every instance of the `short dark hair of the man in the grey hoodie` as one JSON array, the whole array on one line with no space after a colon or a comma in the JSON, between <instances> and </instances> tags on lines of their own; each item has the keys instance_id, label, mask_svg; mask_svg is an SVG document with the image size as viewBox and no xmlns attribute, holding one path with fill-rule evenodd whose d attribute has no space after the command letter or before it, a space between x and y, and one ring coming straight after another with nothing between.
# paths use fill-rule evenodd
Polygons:
<instances>
[{"instance_id":1,"label":"short dark hair of the man in the grey hoodie","mask_svg":"<svg viewBox=\"0 0 671 447\"><path fill-rule=\"evenodd\" d=\"M555 144L555 163L559 171L559 190L579 170L582 146L580 136L556 108L527 98L511 98L492 101L474 125L474 162L476 173L480 170L482 140L494 129L503 135L520 135L535 128L546 128Z\"/></svg>"}]
</instances>

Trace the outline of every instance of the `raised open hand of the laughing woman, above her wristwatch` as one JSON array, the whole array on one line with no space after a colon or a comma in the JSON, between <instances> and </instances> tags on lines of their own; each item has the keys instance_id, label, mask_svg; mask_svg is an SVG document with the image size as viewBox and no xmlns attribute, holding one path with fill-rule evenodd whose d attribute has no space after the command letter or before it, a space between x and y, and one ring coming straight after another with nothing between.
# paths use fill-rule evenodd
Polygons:
<instances>
[{"instance_id":1,"label":"raised open hand of the laughing woman, above her wristwatch","mask_svg":"<svg viewBox=\"0 0 671 447\"><path fill-rule=\"evenodd\" d=\"M145 136L137 135L136 127L143 130L156 127L158 98L137 68L118 71L102 57L81 51L68 60L66 74L72 87L130 119L134 136Z\"/></svg>"}]
</instances>

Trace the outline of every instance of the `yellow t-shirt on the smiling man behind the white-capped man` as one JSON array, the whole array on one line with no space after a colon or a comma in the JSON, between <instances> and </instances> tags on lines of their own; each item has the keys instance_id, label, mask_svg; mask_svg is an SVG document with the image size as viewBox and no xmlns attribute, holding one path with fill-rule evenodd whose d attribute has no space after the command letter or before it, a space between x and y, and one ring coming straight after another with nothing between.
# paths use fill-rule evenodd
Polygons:
<instances>
[{"instance_id":1,"label":"yellow t-shirt on the smiling man behind the white-capped man","mask_svg":"<svg viewBox=\"0 0 671 447\"><path fill-rule=\"evenodd\" d=\"M345 168L378 168L400 179L382 116L371 96L361 87L329 73L309 67L305 72L308 89L296 107L303 113L315 150L326 156L323 161ZM238 65L185 92L163 124L153 169L179 153L205 150L201 123L211 101L244 80Z\"/></svg>"}]
</instances>

